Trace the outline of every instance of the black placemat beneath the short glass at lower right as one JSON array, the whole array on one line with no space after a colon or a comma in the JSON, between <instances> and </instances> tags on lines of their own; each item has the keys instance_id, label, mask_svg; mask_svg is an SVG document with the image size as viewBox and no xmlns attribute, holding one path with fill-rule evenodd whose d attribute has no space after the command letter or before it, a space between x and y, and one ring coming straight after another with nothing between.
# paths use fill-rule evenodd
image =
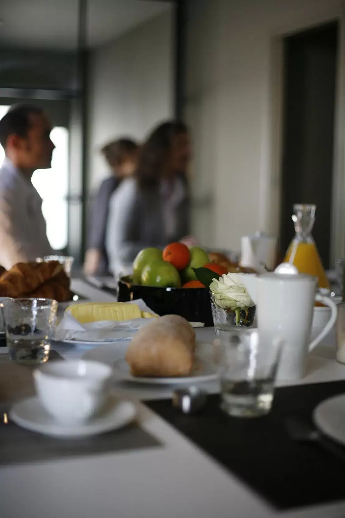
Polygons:
<instances>
[{"instance_id":1,"label":"black placemat beneath the short glass at lower right","mask_svg":"<svg viewBox=\"0 0 345 518\"><path fill-rule=\"evenodd\" d=\"M345 500L345 465L318 445L293 441L286 416L311 419L323 399L345 392L345 382L282 387L271 412L262 418L231 418L219 409L220 396L209 396L205 410L183 415L171 400L146 405L214 460L246 482L277 509Z\"/></svg>"}]
</instances>

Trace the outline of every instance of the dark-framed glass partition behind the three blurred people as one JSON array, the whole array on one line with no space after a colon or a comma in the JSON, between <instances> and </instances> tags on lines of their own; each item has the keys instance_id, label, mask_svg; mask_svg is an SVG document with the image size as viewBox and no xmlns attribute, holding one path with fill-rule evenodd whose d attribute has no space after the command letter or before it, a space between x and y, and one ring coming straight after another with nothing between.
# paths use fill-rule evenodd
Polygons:
<instances>
[{"instance_id":1,"label":"dark-framed glass partition behind the three blurred people","mask_svg":"<svg viewBox=\"0 0 345 518\"><path fill-rule=\"evenodd\" d=\"M33 183L52 247L79 264L93 196L111 174L100 148L123 135L141 141L174 114L174 9L173 0L2 6L0 118L20 102L47 111L56 148L51 169L36 171Z\"/></svg>"}]
</instances>

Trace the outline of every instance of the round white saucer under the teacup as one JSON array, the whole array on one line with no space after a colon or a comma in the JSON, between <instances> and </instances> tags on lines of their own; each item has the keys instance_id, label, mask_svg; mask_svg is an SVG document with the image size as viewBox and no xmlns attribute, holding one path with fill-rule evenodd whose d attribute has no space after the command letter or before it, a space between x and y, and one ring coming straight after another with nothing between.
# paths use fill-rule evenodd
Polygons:
<instances>
[{"instance_id":1,"label":"round white saucer under the teacup","mask_svg":"<svg viewBox=\"0 0 345 518\"><path fill-rule=\"evenodd\" d=\"M116 430L135 418L136 409L130 401L119 401L110 396L104 407L89 421L82 424L59 423L41 406L37 396L19 401L10 410L10 419L40 434L54 437L88 437Z\"/></svg>"}]
</instances>

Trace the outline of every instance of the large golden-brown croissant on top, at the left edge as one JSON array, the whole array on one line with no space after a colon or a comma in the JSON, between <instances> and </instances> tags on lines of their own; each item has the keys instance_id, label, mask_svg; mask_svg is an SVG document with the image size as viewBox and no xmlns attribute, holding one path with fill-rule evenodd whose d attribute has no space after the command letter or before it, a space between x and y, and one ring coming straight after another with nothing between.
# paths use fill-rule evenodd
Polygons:
<instances>
[{"instance_id":1,"label":"large golden-brown croissant on top, at the left edge","mask_svg":"<svg viewBox=\"0 0 345 518\"><path fill-rule=\"evenodd\" d=\"M57 261L15 264L0 276L0 296L16 298L28 295L62 270L63 265Z\"/></svg>"}]
</instances>

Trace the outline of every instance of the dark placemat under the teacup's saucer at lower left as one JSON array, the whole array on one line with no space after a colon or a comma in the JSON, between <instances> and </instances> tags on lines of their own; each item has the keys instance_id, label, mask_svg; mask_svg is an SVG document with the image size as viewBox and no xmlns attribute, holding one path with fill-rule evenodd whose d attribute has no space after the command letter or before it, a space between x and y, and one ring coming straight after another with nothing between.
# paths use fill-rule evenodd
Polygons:
<instances>
[{"instance_id":1,"label":"dark placemat under the teacup's saucer at lower left","mask_svg":"<svg viewBox=\"0 0 345 518\"><path fill-rule=\"evenodd\" d=\"M161 446L137 423L106 434L59 439L25 430L11 421L5 424L6 410L3 407L0 411L0 466Z\"/></svg>"}]
</instances>

